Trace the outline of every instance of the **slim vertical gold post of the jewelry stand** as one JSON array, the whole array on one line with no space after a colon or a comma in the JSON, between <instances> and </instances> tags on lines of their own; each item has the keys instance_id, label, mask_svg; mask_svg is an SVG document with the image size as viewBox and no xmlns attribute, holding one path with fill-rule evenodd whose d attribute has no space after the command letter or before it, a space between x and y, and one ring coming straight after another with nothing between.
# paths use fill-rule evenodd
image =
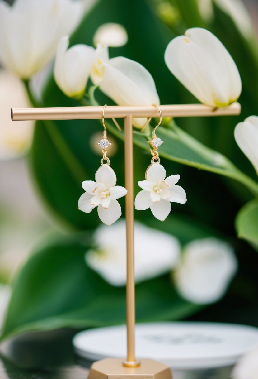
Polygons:
<instances>
[{"instance_id":1,"label":"slim vertical gold post of the jewelry stand","mask_svg":"<svg viewBox=\"0 0 258 379\"><path fill-rule=\"evenodd\" d=\"M137 367L135 360L135 283L134 283L134 156L132 116L124 119L124 173L126 194L126 324L127 324L127 360L124 366Z\"/></svg>"}]
</instances>

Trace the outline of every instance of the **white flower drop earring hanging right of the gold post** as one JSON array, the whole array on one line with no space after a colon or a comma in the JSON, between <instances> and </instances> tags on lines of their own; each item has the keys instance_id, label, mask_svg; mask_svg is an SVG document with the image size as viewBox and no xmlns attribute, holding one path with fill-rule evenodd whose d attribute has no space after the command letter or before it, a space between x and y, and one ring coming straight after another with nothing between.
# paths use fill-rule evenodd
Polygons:
<instances>
[{"instance_id":1,"label":"white flower drop earring hanging right of the gold post","mask_svg":"<svg viewBox=\"0 0 258 379\"><path fill-rule=\"evenodd\" d=\"M152 159L151 164L145 173L146 180L138 182L138 186L140 186L143 191L140 191L135 198L135 209L145 210L151 208L152 214L158 220L164 221L171 211L171 202L185 204L187 198L185 190L176 185L180 179L180 175L171 175L166 178L166 170L160 164L157 149L163 141L157 137L155 130L161 124L162 114L160 107L157 104L152 105L158 108L160 121L153 129L151 140L148 141L151 145ZM147 124L148 122L142 130L144 130Z\"/></svg>"}]
</instances>

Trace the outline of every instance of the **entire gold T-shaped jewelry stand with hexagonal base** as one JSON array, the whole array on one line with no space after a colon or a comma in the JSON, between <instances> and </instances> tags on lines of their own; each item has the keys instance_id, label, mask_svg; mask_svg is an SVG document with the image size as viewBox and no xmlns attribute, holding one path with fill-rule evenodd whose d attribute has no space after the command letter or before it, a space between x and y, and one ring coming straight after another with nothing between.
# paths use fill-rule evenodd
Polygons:
<instances>
[{"instance_id":1,"label":"entire gold T-shaped jewelry stand with hexagonal base","mask_svg":"<svg viewBox=\"0 0 258 379\"><path fill-rule=\"evenodd\" d=\"M238 115L239 103L227 108L212 108L202 104L160 105L163 117L196 117ZM13 121L20 120L72 120L102 119L103 106L76 106L60 108L12 108ZM107 358L93 363L89 379L171 379L168 366L151 359L135 359L135 282L134 282L134 191L133 191L133 117L159 117L153 105L148 106L107 106L105 118L124 118L125 187L126 194L126 324L127 358Z\"/></svg>"}]
</instances>

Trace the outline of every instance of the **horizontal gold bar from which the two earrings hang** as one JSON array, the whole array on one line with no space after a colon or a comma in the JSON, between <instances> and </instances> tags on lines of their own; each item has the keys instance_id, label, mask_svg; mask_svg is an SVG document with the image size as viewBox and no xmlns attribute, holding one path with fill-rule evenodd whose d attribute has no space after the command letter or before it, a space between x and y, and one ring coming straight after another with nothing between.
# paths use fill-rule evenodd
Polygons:
<instances>
[{"instance_id":1,"label":"horizontal gold bar from which the two earrings hang","mask_svg":"<svg viewBox=\"0 0 258 379\"><path fill-rule=\"evenodd\" d=\"M227 108L213 108L203 104L160 105L163 117L228 116L238 115L241 105L233 103ZM20 120L76 120L101 119L103 106L64 106L56 108L12 108L12 121ZM153 105L106 107L105 118L159 117Z\"/></svg>"}]
</instances>

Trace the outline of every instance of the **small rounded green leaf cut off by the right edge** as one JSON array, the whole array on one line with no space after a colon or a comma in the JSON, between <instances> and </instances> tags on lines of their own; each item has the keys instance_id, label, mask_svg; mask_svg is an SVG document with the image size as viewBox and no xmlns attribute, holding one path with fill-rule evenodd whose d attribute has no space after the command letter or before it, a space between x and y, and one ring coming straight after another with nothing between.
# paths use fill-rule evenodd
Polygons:
<instances>
[{"instance_id":1,"label":"small rounded green leaf cut off by the right edge","mask_svg":"<svg viewBox=\"0 0 258 379\"><path fill-rule=\"evenodd\" d=\"M258 200L250 201L239 210L236 231L239 238L258 247Z\"/></svg>"}]
</instances>

